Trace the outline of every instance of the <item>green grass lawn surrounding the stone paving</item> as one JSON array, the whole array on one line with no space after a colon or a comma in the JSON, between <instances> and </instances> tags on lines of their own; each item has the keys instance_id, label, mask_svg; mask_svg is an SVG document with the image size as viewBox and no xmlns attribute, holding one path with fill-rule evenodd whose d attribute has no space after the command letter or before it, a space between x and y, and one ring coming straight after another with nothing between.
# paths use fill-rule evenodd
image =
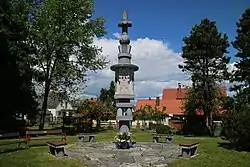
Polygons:
<instances>
[{"instance_id":1,"label":"green grass lawn surrounding the stone paving","mask_svg":"<svg viewBox=\"0 0 250 167\"><path fill-rule=\"evenodd\" d=\"M136 141L152 141L151 133L133 132ZM97 134L97 141L113 141L114 131L100 132ZM195 138L187 139L183 136L175 136L174 143L184 141L199 141L198 156L187 159L180 159L171 164L170 167L249 167L250 153L237 152L218 147L219 138ZM31 142L31 144L44 143L44 141ZM76 136L67 136L67 142L77 142ZM0 152L16 148L16 145L1 146ZM25 148L23 144L22 148ZM29 149L20 149L8 153L0 153L0 167L84 167L84 162L70 158L55 158L48 153L47 146L35 146Z\"/></svg>"}]
</instances>

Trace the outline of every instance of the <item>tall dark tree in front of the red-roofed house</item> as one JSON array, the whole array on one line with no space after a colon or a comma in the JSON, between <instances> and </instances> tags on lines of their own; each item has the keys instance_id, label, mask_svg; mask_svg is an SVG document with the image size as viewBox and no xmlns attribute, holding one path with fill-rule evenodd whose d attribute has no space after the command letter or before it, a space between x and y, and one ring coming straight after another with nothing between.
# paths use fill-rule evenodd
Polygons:
<instances>
[{"instance_id":1,"label":"tall dark tree in front of the red-roofed house","mask_svg":"<svg viewBox=\"0 0 250 167\"><path fill-rule=\"evenodd\" d=\"M198 95L199 107L204 111L206 126L212 134L213 112L218 101L217 84L228 78L226 65L230 58L225 55L228 37L218 32L214 21L205 18L192 28L183 42L184 64L179 68L191 75L194 93Z\"/></svg>"}]
</instances>

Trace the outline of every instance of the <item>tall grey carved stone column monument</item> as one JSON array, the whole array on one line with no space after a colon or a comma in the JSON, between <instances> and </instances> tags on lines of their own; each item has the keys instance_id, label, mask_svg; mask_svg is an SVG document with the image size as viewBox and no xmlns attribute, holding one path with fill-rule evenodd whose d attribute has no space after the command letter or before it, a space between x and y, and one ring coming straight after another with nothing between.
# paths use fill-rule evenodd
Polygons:
<instances>
[{"instance_id":1,"label":"tall grey carved stone column monument","mask_svg":"<svg viewBox=\"0 0 250 167\"><path fill-rule=\"evenodd\" d=\"M133 104L130 100L134 100L134 72L139 70L137 65L131 64L132 55L130 53L131 46L128 36L128 27L132 27L132 22L128 20L128 13L123 12L123 19L119 22L118 27L122 28L118 46L118 64L112 65L111 70L115 71L115 100L116 100L116 120L119 131L127 126L130 129L133 117ZM124 126L123 126L124 125ZM123 127L122 129L120 129Z\"/></svg>"}]
</instances>

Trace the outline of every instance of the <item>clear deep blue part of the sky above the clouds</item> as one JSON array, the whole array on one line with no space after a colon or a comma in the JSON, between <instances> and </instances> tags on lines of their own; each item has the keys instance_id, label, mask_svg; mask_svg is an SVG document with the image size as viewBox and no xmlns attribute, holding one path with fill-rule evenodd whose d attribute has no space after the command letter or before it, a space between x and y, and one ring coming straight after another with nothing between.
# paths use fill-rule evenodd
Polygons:
<instances>
[{"instance_id":1,"label":"clear deep blue part of the sky above the clouds","mask_svg":"<svg viewBox=\"0 0 250 167\"><path fill-rule=\"evenodd\" d=\"M218 29L227 33L232 41L236 21L248 6L250 1L247 0L95 0L95 16L106 18L106 37L114 38L112 34L120 32L117 23L122 11L128 10L133 22L129 32L131 39L162 40L178 53L181 52L182 38L205 17L216 21ZM230 48L230 56L234 52Z\"/></svg>"}]
</instances>

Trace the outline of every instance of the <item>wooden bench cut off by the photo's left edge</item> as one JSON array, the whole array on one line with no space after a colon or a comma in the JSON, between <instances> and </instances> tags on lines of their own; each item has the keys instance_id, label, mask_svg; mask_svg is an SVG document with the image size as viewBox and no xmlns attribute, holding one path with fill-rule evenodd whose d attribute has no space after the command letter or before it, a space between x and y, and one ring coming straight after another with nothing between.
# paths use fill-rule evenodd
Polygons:
<instances>
[{"instance_id":1,"label":"wooden bench cut off by the photo's left edge","mask_svg":"<svg viewBox=\"0 0 250 167\"><path fill-rule=\"evenodd\" d=\"M18 144L17 147L19 148L21 143L26 142L25 140L21 139L19 132L0 134L0 140L5 140L5 139L13 139L13 140L0 142L0 146Z\"/></svg>"}]
</instances>

